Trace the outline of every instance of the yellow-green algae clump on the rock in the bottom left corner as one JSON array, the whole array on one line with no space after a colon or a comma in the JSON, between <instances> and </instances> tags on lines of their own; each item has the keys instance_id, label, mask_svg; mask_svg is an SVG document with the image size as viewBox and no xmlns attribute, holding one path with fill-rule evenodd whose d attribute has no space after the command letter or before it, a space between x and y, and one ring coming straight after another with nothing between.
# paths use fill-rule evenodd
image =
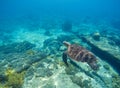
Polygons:
<instances>
[{"instance_id":1,"label":"yellow-green algae clump on the rock in the bottom left corner","mask_svg":"<svg viewBox=\"0 0 120 88\"><path fill-rule=\"evenodd\" d=\"M0 83L0 88L22 88L25 72L17 73L13 69L7 69L5 76L7 80L5 83Z\"/></svg>"}]
</instances>

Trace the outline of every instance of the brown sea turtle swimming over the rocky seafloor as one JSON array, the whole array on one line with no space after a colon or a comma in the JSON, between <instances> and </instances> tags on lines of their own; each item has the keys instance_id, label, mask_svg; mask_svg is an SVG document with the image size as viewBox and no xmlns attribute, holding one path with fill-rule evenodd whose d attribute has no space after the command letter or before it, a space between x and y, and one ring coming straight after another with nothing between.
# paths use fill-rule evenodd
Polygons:
<instances>
[{"instance_id":1,"label":"brown sea turtle swimming over the rocky seafloor","mask_svg":"<svg viewBox=\"0 0 120 88\"><path fill-rule=\"evenodd\" d=\"M66 65L67 56L69 56L70 60L77 62L86 62L93 70L98 70L99 66L97 65L97 58L95 55L77 44L70 44L67 41L64 41L63 44L67 47L67 51L63 53L63 61Z\"/></svg>"}]
</instances>

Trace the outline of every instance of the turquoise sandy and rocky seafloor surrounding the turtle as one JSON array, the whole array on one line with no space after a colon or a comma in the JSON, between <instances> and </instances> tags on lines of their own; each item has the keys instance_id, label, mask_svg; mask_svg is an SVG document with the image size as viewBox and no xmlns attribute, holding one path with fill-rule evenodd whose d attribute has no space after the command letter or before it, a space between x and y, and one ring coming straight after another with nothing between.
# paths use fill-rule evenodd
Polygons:
<instances>
[{"instance_id":1,"label":"turquoise sandy and rocky seafloor surrounding the turtle","mask_svg":"<svg viewBox=\"0 0 120 88\"><path fill-rule=\"evenodd\" d=\"M104 49L113 47L112 53L116 53L116 49L119 53L120 46L109 39L111 36L120 38L118 29L107 23L79 23L73 24L73 33L64 32L61 27L47 30L49 33L45 33L46 29L41 26L34 30L17 26L13 31L1 32L0 88L120 88L119 73L104 58L96 55L100 65L97 72L86 63L79 62L77 68L70 61L69 67L62 61L62 53L66 50L63 41L91 50L92 47L76 35L93 38L99 33L101 40L95 44L103 45ZM23 78L20 76L22 72Z\"/></svg>"}]
</instances>

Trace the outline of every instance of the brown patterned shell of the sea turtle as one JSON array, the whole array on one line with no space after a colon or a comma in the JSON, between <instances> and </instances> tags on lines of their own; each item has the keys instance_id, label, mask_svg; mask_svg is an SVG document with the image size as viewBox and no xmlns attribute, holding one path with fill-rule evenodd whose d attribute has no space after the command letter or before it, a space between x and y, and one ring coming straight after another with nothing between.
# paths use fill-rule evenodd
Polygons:
<instances>
[{"instance_id":1,"label":"brown patterned shell of the sea turtle","mask_svg":"<svg viewBox=\"0 0 120 88\"><path fill-rule=\"evenodd\" d=\"M92 69L98 69L96 57L82 46L77 44L70 45L68 47L67 54L71 59L87 62Z\"/></svg>"}]
</instances>

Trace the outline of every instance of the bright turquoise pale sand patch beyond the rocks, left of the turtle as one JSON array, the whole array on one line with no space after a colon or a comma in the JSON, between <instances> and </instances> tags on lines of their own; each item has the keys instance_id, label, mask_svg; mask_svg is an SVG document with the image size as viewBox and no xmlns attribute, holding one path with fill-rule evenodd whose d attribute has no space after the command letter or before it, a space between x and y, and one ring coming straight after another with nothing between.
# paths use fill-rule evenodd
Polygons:
<instances>
[{"instance_id":1,"label":"bright turquoise pale sand patch beyond the rocks, left of the turtle","mask_svg":"<svg viewBox=\"0 0 120 88\"><path fill-rule=\"evenodd\" d=\"M28 41L30 43L33 43L36 45L37 48L40 48L43 46L43 42L48 38L57 38L61 34L66 34L61 31L61 29L52 29L50 30L51 36L45 35L44 29L39 29L36 31L28 31L24 28L18 28L17 31L14 31L12 33L12 41L13 42L23 42Z\"/></svg>"}]
</instances>

